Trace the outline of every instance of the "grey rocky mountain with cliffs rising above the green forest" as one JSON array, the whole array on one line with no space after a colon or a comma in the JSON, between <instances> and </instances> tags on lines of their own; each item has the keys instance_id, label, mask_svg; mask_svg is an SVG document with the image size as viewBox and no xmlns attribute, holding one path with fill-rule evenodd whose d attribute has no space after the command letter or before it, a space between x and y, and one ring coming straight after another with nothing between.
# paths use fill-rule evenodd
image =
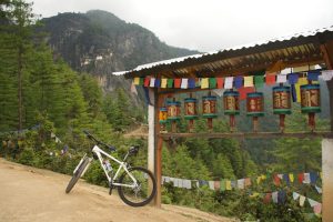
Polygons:
<instances>
[{"instance_id":1,"label":"grey rocky mountain with cliffs rising above the green forest","mask_svg":"<svg viewBox=\"0 0 333 222\"><path fill-rule=\"evenodd\" d=\"M183 57L198 51L170 47L151 31L128 23L114 14L92 10L87 13L59 13L42 20L48 42L74 70L95 75L105 91L129 82L114 77L142 63Z\"/></svg>"}]
</instances>

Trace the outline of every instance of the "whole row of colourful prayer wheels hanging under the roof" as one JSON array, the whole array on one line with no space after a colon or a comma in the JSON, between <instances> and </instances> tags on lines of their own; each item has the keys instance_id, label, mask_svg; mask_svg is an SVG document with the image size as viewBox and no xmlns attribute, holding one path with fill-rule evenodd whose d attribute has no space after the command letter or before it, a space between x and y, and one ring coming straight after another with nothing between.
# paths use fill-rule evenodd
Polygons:
<instances>
[{"instance_id":1,"label":"whole row of colourful prayer wheels hanging under the roof","mask_svg":"<svg viewBox=\"0 0 333 222\"><path fill-rule=\"evenodd\" d=\"M291 87L279 85L273 88L273 113L280 115L280 131L284 131L286 114L291 114ZM238 91L225 91L223 93L224 114L230 117L230 131L234 131L235 115L240 114L240 93ZM218 98L211 95L202 97L202 118L208 119L208 127L212 130L212 120L218 118ZM320 85L301 85L301 111L309 114L309 125L313 131L315 128L314 114L321 112ZM246 115L253 119L253 131L259 128L259 118L264 115L264 94L262 92L250 92L246 97ZM198 100L184 99L184 119L189 120L189 131L193 130L194 120L199 118ZM175 132L176 121L181 119L181 102L168 101L167 108L160 108L160 123L164 130L165 123L172 123L172 132Z\"/></svg>"}]
</instances>

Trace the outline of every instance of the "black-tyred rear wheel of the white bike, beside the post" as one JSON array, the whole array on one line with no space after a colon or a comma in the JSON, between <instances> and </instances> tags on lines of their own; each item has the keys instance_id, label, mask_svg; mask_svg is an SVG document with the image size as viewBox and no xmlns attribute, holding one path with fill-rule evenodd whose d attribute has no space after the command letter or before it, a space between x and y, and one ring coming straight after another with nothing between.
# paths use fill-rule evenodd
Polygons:
<instances>
[{"instance_id":1,"label":"black-tyred rear wheel of the white bike, beside the post","mask_svg":"<svg viewBox=\"0 0 333 222\"><path fill-rule=\"evenodd\" d=\"M130 168L129 172L135 178L137 185L129 175L123 172L119 179L119 183L124 185L134 185L133 188L120 185L118 186L118 193L121 200L131 206L143 206L148 204L157 192L155 179L149 170L140 167Z\"/></svg>"}]
</instances>

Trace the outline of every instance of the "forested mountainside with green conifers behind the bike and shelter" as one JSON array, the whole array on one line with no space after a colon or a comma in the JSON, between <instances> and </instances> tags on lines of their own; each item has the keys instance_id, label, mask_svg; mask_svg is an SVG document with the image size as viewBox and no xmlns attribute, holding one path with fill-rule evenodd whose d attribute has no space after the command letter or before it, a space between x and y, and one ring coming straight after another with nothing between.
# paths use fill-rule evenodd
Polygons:
<instances>
[{"instance_id":1,"label":"forested mountainside with green conifers behind the bike and shelter","mask_svg":"<svg viewBox=\"0 0 333 222\"><path fill-rule=\"evenodd\" d=\"M125 139L123 131L145 122L147 110L143 103L133 102L130 82L123 83L123 79L112 77L111 72L194 52L170 48L152 32L109 12L62 13L38 20L31 7L21 0L0 3L0 155L70 174L91 145L81 132L88 129L115 145L118 157L130 144L140 144L142 150L131 163L145 165L147 141ZM278 122L270 110L270 98L266 93L266 115L260 120L265 131L276 130ZM305 128L306 117L300 114L297 105L293 104L293 114L287 117L291 131ZM317 119L319 129L329 125L325 113ZM221 109L219 115L213 130L226 132L228 119ZM239 131L249 131L251 120L242 114L238 125ZM181 120L180 131L185 130L186 121ZM205 120L195 121L195 131L206 131ZM246 176L255 180L262 174L272 178L276 173L319 171L320 140L193 138L171 140L163 148L163 174L174 178L235 181ZM98 164L91 165L85 179L108 185ZM164 203L195 206L241 220L309 221L304 214L311 212L309 205L301 208L292 199L285 204L263 203L262 195L252 196L278 189L321 199L313 184L275 186L272 182L232 191L208 186L184 190L164 184L162 199Z\"/></svg>"}]
</instances>

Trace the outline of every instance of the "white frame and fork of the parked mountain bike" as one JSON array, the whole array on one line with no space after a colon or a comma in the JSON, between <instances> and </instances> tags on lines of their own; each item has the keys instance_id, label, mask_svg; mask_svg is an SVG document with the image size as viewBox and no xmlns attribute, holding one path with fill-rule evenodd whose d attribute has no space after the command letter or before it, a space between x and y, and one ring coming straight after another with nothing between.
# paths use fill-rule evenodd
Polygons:
<instances>
[{"instance_id":1,"label":"white frame and fork of the parked mountain bike","mask_svg":"<svg viewBox=\"0 0 333 222\"><path fill-rule=\"evenodd\" d=\"M109 184L111 183L112 181L112 185L115 185L115 186L127 186L127 188L137 188L138 186L138 182L137 182L137 179L132 175L132 173L128 170L128 167L125 164L125 162L122 162L122 161L119 161L117 160L115 158L113 158L112 155L110 155L109 153L104 152L102 149L100 149L98 145L94 145L92 148L92 152L97 154L97 157L99 158L99 161L100 161L100 164L108 178L108 181L109 181ZM84 154L84 157L81 159L80 163L78 164L78 167L75 168L75 170L73 171L73 173L77 172L77 170L79 169L79 165L83 162L84 158L85 158L87 153ZM108 169L107 167L103 164L103 157L102 155L105 155L107 158L111 159L112 161L117 162L119 164L119 168L114 174L113 178L110 178L110 175L108 174ZM89 164L85 167L83 173L81 176L83 176L83 174L85 173L85 171L88 170L91 161L93 159L92 158L89 158ZM119 173L121 172L121 169L123 169L128 174L129 176L132 179L133 181L133 184L130 185L130 184L123 184L123 183L114 183L113 181L117 180L117 178L119 176Z\"/></svg>"}]
</instances>

